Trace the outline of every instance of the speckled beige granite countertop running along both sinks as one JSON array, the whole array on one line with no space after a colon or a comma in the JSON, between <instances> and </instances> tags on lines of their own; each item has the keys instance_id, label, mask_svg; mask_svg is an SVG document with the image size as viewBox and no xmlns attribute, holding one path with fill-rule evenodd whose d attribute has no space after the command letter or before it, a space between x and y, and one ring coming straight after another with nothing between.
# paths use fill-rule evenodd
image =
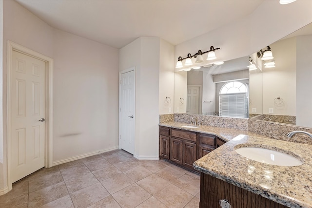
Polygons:
<instances>
[{"instance_id":1,"label":"speckled beige granite countertop running along both sinks","mask_svg":"<svg viewBox=\"0 0 312 208\"><path fill-rule=\"evenodd\" d=\"M182 127L168 122L160 126L214 134L226 144L194 163L194 168L291 208L312 208L312 146L270 139L252 132L202 126ZM275 166L256 162L236 153L237 147L262 147L286 152L300 159L300 166ZM237 148L236 147L236 148Z\"/></svg>"}]
</instances>

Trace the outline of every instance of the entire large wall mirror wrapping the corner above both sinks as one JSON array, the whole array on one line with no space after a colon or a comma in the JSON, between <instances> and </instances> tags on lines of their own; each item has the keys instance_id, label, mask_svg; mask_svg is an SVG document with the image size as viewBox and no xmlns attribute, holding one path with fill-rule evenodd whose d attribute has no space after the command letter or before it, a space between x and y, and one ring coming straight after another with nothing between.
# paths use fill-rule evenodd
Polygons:
<instances>
[{"instance_id":1,"label":"entire large wall mirror wrapping the corner above both sinks","mask_svg":"<svg viewBox=\"0 0 312 208\"><path fill-rule=\"evenodd\" d=\"M273 68L265 68L257 51L222 65L176 72L174 113L250 117L312 128L312 23L270 44L270 48ZM247 66L251 63L256 68L249 71ZM220 113L221 90L230 89L228 83L247 89L245 98L249 101L244 116ZM229 95L242 95L245 91L229 90Z\"/></svg>"}]
</instances>

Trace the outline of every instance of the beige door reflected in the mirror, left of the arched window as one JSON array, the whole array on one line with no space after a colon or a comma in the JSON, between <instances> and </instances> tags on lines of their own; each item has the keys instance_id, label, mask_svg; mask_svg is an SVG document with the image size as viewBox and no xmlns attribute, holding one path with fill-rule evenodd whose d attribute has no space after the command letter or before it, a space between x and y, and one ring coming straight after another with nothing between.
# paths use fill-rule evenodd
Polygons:
<instances>
[{"instance_id":1,"label":"beige door reflected in the mirror, left of the arched window","mask_svg":"<svg viewBox=\"0 0 312 208\"><path fill-rule=\"evenodd\" d=\"M199 114L199 87L187 87L186 113Z\"/></svg>"}]
</instances>

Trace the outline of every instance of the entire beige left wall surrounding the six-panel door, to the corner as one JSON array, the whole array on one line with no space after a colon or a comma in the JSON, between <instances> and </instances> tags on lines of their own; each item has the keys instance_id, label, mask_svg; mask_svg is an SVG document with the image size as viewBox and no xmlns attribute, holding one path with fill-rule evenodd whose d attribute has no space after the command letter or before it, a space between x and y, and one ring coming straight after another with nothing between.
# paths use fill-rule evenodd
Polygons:
<instances>
[{"instance_id":1,"label":"entire beige left wall surrounding the six-panel door, to the corner","mask_svg":"<svg viewBox=\"0 0 312 208\"><path fill-rule=\"evenodd\" d=\"M8 185L8 40L54 59L54 163L118 147L118 50L56 30L16 1L5 0L1 152L4 164L0 166L0 192Z\"/></svg>"}]
</instances>

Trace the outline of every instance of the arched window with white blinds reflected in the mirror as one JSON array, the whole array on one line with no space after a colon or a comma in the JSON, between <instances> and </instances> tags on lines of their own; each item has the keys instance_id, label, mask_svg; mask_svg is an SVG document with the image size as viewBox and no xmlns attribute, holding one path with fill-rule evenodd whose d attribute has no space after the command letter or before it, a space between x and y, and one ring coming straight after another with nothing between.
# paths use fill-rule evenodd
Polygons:
<instances>
[{"instance_id":1,"label":"arched window with white blinds reflected in the mirror","mask_svg":"<svg viewBox=\"0 0 312 208\"><path fill-rule=\"evenodd\" d=\"M219 115L227 117L248 117L248 88L234 81L222 86L219 93Z\"/></svg>"}]
</instances>

